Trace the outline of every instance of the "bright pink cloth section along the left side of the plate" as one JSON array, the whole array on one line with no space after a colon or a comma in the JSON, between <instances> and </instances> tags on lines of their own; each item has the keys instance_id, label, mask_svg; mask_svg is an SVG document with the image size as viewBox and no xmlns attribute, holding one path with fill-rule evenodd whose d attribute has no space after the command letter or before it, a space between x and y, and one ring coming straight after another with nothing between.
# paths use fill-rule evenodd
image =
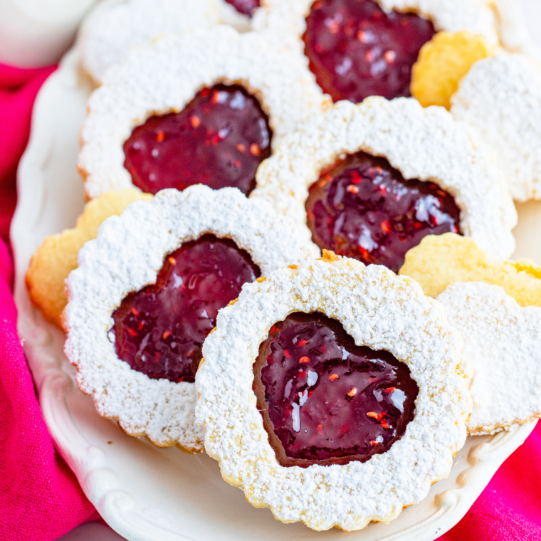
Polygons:
<instances>
[{"instance_id":1,"label":"bright pink cloth section along the left side of the plate","mask_svg":"<svg viewBox=\"0 0 541 541\"><path fill-rule=\"evenodd\" d=\"M28 140L33 99L53 68L0 65L0 236L8 238L16 167ZM16 330L12 263L0 239L0 540L56 540L93 517L43 421Z\"/></svg>"}]
</instances>

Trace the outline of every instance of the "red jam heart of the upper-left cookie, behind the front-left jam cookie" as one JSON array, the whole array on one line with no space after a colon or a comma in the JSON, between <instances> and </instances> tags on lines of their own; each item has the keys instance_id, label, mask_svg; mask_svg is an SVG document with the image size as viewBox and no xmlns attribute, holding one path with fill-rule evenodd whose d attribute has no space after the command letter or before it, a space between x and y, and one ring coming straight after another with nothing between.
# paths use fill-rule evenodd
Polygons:
<instances>
[{"instance_id":1,"label":"red jam heart of the upper-left cookie, behind the front-left jam cookie","mask_svg":"<svg viewBox=\"0 0 541 541\"><path fill-rule=\"evenodd\" d=\"M124 167L142 191L192 184L248 195L271 155L271 128L258 100L239 85L204 88L182 112L150 117L124 143Z\"/></svg>"}]
</instances>

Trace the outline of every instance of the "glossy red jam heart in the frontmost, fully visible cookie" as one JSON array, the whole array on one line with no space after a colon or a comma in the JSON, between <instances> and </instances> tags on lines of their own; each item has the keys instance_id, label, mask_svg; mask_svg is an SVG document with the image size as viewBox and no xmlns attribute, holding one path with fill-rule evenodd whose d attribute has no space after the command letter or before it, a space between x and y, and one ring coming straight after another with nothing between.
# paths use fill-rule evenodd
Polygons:
<instances>
[{"instance_id":1,"label":"glossy red jam heart in the frontmost, fully visible cookie","mask_svg":"<svg viewBox=\"0 0 541 541\"><path fill-rule=\"evenodd\" d=\"M281 466L366 462L414 418L419 389L389 352L359 347L336 320L288 315L253 364L253 391Z\"/></svg>"}]
</instances>

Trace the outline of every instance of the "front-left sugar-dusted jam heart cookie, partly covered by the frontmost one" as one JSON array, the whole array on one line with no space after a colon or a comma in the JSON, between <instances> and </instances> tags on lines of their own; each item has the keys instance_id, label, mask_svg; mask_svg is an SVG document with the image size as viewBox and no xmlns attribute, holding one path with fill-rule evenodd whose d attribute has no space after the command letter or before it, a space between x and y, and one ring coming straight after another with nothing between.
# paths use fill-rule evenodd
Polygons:
<instances>
[{"instance_id":1,"label":"front-left sugar-dusted jam heart cookie, partly covered by the frontmost one","mask_svg":"<svg viewBox=\"0 0 541 541\"><path fill-rule=\"evenodd\" d=\"M65 354L80 389L127 434L201 451L201 344L243 284L317 254L299 238L231 188L164 190L107 219L67 281Z\"/></svg>"}]
</instances>

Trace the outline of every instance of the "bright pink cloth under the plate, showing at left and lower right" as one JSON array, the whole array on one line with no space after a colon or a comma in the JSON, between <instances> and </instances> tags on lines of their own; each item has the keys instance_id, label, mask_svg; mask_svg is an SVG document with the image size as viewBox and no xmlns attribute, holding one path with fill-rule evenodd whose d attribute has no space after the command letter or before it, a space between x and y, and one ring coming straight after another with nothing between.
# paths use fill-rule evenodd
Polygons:
<instances>
[{"instance_id":1,"label":"bright pink cloth under the plate, showing at left and lower right","mask_svg":"<svg viewBox=\"0 0 541 541\"><path fill-rule=\"evenodd\" d=\"M52 68L0 65L0 236L16 202L16 166L31 105ZM95 515L41 416L16 332L11 259L0 240L0 540L48 541ZM541 347L541 345L540 345ZM541 541L541 424L441 541Z\"/></svg>"}]
</instances>

